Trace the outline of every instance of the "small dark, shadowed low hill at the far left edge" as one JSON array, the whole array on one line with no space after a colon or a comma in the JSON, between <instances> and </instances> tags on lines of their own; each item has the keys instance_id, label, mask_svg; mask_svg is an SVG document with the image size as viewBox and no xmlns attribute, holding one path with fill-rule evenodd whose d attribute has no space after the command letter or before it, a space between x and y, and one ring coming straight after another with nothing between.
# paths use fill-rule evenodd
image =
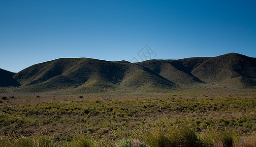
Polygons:
<instances>
[{"instance_id":1,"label":"small dark, shadowed low hill at the far left edge","mask_svg":"<svg viewBox=\"0 0 256 147\"><path fill-rule=\"evenodd\" d=\"M12 78L15 73L0 69L0 87L19 86L20 84Z\"/></svg>"}]
</instances>

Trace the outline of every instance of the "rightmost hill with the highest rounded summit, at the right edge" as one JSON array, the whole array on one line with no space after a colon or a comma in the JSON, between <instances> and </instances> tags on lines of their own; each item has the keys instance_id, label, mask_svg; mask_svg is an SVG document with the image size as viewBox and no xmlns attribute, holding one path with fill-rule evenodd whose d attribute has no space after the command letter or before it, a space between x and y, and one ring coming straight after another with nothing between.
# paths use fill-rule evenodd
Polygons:
<instances>
[{"instance_id":1,"label":"rightmost hill with the highest rounded summit, at the right edge","mask_svg":"<svg viewBox=\"0 0 256 147\"><path fill-rule=\"evenodd\" d=\"M192 74L207 83L251 87L256 85L256 58L229 53L204 61Z\"/></svg>"}]
</instances>

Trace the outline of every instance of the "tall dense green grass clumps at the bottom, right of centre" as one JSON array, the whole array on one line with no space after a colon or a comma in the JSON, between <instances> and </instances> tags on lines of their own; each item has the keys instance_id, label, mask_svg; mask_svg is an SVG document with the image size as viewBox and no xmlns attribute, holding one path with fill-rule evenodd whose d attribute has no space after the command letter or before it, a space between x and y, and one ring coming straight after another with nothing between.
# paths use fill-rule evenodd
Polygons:
<instances>
[{"instance_id":1,"label":"tall dense green grass clumps at the bottom, right of centre","mask_svg":"<svg viewBox=\"0 0 256 147\"><path fill-rule=\"evenodd\" d=\"M145 136L150 147L232 147L234 136L216 129L196 132L189 125L156 126Z\"/></svg>"}]
</instances>

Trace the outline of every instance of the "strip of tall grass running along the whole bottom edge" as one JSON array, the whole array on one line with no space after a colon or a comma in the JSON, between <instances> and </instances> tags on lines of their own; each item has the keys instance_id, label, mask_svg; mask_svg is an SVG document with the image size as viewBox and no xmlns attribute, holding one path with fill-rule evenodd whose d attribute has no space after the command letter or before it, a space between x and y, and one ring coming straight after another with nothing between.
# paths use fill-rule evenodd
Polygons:
<instances>
[{"instance_id":1,"label":"strip of tall grass running along the whole bottom edge","mask_svg":"<svg viewBox=\"0 0 256 147\"><path fill-rule=\"evenodd\" d=\"M154 124L155 125L155 124ZM57 141L54 137L1 136L0 147L255 147L256 135L237 137L233 133L208 130L198 133L189 125L162 127L160 122L150 129L142 129L140 138L127 136L128 139L106 141L95 136L77 134L73 140ZM236 142L235 142L236 140Z\"/></svg>"}]
</instances>

